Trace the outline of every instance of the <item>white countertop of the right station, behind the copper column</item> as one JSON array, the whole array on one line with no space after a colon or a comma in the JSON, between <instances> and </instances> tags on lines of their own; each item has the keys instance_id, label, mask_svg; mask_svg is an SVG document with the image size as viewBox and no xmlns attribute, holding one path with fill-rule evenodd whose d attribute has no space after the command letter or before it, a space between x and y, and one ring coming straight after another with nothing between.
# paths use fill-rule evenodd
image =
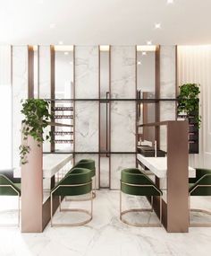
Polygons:
<instances>
[{"instance_id":1,"label":"white countertop of the right station, behind the copper column","mask_svg":"<svg viewBox=\"0 0 211 256\"><path fill-rule=\"evenodd\" d=\"M139 162L143 163L158 178L166 178L167 174L167 157L145 157L137 154ZM196 170L189 166L189 177L194 178Z\"/></svg>"}]
</instances>

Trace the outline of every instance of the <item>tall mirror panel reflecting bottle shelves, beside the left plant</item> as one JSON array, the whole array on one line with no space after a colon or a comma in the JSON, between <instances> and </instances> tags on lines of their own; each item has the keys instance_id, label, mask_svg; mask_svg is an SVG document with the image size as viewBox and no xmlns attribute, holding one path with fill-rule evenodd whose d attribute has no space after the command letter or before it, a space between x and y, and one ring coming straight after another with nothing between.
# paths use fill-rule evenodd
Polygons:
<instances>
[{"instance_id":1,"label":"tall mirror panel reflecting bottle shelves, beside the left plant","mask_svg":"<svg viewBox=\"0 0 211 256\"><path fill-rule=\"evenodd\" d=\"M55 122L72 127L55 127L55 151L73 149L73 46L55 46Z\"/></svg>"}]
</instances>

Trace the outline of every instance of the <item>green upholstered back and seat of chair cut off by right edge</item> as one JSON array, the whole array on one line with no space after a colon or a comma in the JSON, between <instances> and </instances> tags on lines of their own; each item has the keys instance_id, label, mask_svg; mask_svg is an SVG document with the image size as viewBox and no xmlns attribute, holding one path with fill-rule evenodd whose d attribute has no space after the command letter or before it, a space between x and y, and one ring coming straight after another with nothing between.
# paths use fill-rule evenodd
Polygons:
<instances>
[{"instance_id":1,"label":"green upholstered back and seat of chair cut off by right edge","mask_svg":"<svg viewBox=\"0 0 211 256\"><path fill-rule=\"evenodd\" d=\"M189 191L190 196L211 196L211 170L196 169L195 182L190 183Z\"/></svg>"}]
</instances>

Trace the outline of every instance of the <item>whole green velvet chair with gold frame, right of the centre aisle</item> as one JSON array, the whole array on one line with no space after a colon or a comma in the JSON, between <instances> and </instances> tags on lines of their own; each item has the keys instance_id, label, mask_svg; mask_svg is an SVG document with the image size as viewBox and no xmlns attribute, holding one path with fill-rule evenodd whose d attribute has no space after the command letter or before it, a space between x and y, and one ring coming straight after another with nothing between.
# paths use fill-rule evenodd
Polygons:
<instances>
[{"instance_id":1,"label":"whole green velvet chair with gold frame, right of the centre aisle","mask_svg":"<svg viewBox=\"0 0 211 256\"><path fill-rule=\"evenodd\" d=\"M156 187L156 184L151 181L147 175L140 172L138 168L128 168L121 172L121 190L120 190L120 219L127 225L134 226L161 226L162 219L162 191ZM153 197L160 198L160 223L159 224L142 224L132 223L125 220L122 216L131 212L146 212L153 211L153 208L131 208L122 211L122 192L132 196L144 196L151 198L151 205L153 207Z\"/></svg>"}]
</instances>

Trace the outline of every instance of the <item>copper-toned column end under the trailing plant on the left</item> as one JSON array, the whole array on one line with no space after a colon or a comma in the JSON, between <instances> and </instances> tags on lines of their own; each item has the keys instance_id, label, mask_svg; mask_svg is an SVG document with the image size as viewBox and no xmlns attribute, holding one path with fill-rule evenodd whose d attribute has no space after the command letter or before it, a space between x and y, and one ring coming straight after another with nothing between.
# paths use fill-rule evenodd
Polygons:
<instances>
[{"instance_id":1,"label":"copper-toned column end under the trailing plant on the left","mask_svg":"<svg viewBox=\"0 0 211 256\"><path fill-rule=\"evenodd\" d=\"M38 233L43 231L42 146L32 137L28 137L27 144L28 163L21 166L21 232Z\"/></svg>"}]
</instances>

